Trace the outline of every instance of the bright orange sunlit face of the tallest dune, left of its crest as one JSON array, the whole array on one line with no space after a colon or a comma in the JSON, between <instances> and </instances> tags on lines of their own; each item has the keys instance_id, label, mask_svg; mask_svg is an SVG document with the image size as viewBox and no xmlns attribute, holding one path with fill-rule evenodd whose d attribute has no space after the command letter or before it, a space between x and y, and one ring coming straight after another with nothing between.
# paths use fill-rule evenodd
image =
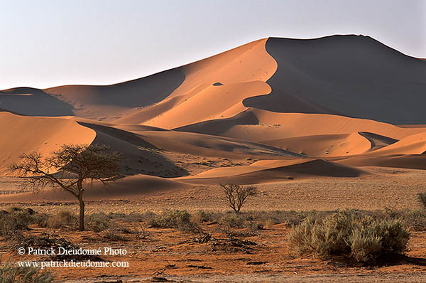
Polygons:
<instances>
[{"instance_id":1,"label":"bright orange sunlit face of the tallest dune, left of its crest","mask_svg":"<svg viewBox=\"0 0 426 283\"><path fill-rule=\"evenodd\" d=\"M185 80L169 97L115 122L171 129L245 110L242 101L246 97L271 92L265 81L277 64L266 53L265 43L266 39L253 41L182 66Z\"/></svg>"}]
</instances>

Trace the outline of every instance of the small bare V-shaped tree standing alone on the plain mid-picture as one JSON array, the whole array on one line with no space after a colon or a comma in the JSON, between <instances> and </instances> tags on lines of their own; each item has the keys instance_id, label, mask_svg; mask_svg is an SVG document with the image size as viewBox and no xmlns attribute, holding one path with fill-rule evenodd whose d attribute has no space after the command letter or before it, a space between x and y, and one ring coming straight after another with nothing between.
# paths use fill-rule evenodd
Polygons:
<instances>
[{"instance_id":1,"label":"small bare V-shaped tree standing alone on the plain mid-picture","mask_svg":"<svg viewBox=\"0 0 426 283\"><path fill-rule=\"evenodd\" d=\"M220 186L224 189L229 207L232 208L236 214L240 213L241 207L249 196L256 196L257 194L257 188L255 186L243 187L235 183L226 183Z\"/></svg>"}]
</instances>

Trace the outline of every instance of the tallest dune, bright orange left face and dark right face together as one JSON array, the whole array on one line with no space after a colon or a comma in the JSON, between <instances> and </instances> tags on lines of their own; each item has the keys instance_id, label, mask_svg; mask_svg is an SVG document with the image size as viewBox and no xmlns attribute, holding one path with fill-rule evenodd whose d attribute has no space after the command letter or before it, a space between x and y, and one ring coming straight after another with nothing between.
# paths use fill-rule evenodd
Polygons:
<instances>
[{"instance_id":1,"label":"tallest dune, bright orange left face and dark right face together","mask_svg":"<svg viewBox=\"0 0 426 283\"><path fill-rule=\"evenodd\" d=\"M248 51L249 46L252 49ZM261 57L265 59L254 60ZM270 63L271 58L276 61L275 64ZM246 62L251 65L242 65ZM254 65L259 70L253 68ZM232 73L229 72L231 68L234 70ZM265 70L263 74L259 73L261 69ZM331 36L313 40L268 38L186 65L182 72L185 73L185 81L170 97L152 110L148 107L117 122L144 123L170 129L222 115L231 117L245 107L273 112L340 114L398 124L421 123L425 119L421 103L418 104L425 100L422 95L426 90L423 80L425 62L364 36ZM239 94L230 92L232 102L226 100L226 95L220 95L221 87L229 83L256 80L266 81L272 92L256 94L256 91L246 92L241 88ZM219 88L214 88L214 82ZM190 100L191 97L197 99ZM221 97L222 106L216 102L209 113L202 113L203 117L200 117L197 111L209 108L211 97ZM241 102L234 103L237 97ZM386 103L382 101L383 97ZM224 112L225 105L234 107ZM401 107L413 111L405 114L400 111ZM185 115L184 119L184 112L195 114Z\"/></svg>"}]
</instances>

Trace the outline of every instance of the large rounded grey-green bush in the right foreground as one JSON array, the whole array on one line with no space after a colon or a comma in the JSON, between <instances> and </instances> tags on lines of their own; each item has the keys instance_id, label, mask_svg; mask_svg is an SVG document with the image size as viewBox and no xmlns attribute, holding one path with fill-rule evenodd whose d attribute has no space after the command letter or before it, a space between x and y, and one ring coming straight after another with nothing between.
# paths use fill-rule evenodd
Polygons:
<instances>
[{"instance_id":1,"label":"large rounded grey-green bush in the right foreground","mask_svg":"<svg viewBox=\"0 0 426 283\"><path fill-rule=\"evenodd\" d=\"M410 234L395 219L377 220L355 210L339 210L321 219L308 216L290 232L295 255L344 255L374 264L405 252Z\"/></svg>"}]
</instances>

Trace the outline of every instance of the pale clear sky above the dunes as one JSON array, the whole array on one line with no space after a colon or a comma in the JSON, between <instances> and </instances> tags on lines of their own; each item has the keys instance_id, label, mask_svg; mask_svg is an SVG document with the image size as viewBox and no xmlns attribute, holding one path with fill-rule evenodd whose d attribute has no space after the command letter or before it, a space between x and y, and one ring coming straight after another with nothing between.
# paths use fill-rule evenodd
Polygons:
<instances>
[{"instance_id":1,"label":"pale clear sky above the dunes","mask_svg":"<svg viewBox=\"0 0 426 283\"><path fill-rule=\"evenodd\" d=\"M0 0L0 90L107 85L268 36L348 33L426 58L426 0Z\"/></svg>"}]
</instances>

